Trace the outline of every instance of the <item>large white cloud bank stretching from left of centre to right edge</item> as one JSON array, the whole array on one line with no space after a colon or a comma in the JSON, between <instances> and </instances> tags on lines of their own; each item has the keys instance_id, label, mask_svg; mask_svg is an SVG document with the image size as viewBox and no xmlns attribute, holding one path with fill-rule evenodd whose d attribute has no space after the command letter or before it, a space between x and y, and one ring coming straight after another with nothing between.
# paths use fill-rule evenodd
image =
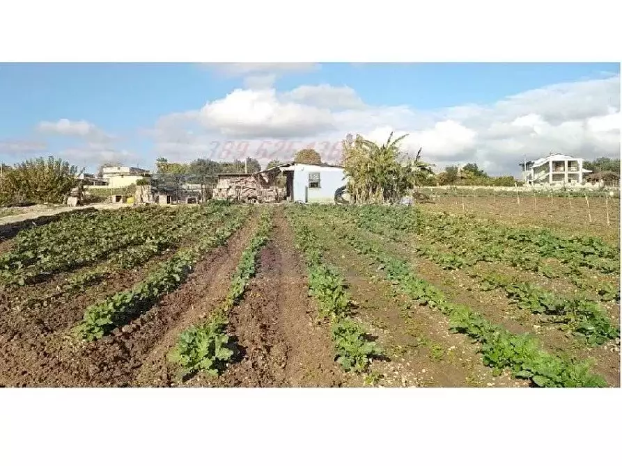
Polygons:
<instances>
[{"instance_id":1,"label":"large white cloud bank stretching from left of centre to right edge","mask_svg":"<svg viewBox=\"0 0 622 466\"><path fill-rule=\"evenodd\" d=\"M265 84L160 119L157 154L269 160L315 143L327 161L336 161L335 147L348 132L383 143L391 131L396 137L408 134L405 150L423 147L422 156L439 168L474 161L491 174L518 174L524 156L550 151L588 159L620 154L619 75L435 111L369 106L348 87L300 86L279 93ZM231 143L223 152L224 140Z\"/></svg>"}]
</instances>

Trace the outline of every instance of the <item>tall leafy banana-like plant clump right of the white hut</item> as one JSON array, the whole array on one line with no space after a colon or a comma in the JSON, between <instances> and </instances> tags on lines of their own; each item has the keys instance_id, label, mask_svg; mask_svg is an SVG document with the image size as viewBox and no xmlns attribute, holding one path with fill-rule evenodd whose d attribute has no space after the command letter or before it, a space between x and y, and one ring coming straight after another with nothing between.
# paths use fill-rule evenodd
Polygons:
<instances>
[{"instance_id":1,"label":"tall leafy banana-like plant clump right of the white hut","mask_svg":"<svg viewBox=\"0 0 622 466\"><path fill-rule=\"evenodd\" d=\"M417 170L412 161L403 163L399 146L406 136L391 140L391 133L381 146L361 136L343 141L343 168L352 202L397 202L415 186ZM419 159L416 163L422 166Z\"/></svg>"}]
</instances>

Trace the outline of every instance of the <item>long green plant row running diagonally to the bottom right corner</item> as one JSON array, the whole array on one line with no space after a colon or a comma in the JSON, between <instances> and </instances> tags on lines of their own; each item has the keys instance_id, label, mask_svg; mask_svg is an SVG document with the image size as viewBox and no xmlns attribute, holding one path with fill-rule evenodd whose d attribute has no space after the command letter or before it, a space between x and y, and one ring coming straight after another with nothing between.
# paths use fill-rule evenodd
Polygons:
<instances>
[{"instance_id":1,"label":"long green plant row running diagonally to the bottom right corner","mask_svg":"<svg viewBox=\"0 0 622 466\"><path fill-rule=\"evenodd\" d=\"M464 333L481 347L483 363L497 373L508 369L517 378L528 379L538 387L605 387L600 376L590 372L589 362L552 355L540 348L529 334L516 335L497 326L464 305L451 303L446 296L425 280L417 278L409 264L380 248L374 241L362 239L333 223L337 236L347 241L356 252L369 257L394 287L420 305L439 310L451 322L451 330Z\"/></svg>"}]
</instances>

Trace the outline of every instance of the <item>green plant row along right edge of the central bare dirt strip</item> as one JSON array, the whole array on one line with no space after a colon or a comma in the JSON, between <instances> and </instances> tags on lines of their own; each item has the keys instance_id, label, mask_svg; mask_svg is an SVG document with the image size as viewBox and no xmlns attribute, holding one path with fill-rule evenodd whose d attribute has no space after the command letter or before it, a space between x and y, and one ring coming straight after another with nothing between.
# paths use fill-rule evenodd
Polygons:
<instances>
[{"instance_id":1,"label":"green plant row along right edge of the central bare dirt strip","mask_svg":"<svg viewBox=\"0 0 622 466\"><path fill-rule=\"evenodd\" d=\"M288 216L296 246L306 261L309 295L318 303L320 319L331 324L336 361L345 371L367 371L373 357L381 356L382 350L351 318L352 300L347 286L339 272L322 259L322 246L316 234L304 223L303 209L290 207Z\"/></svg>"}]
</instances>

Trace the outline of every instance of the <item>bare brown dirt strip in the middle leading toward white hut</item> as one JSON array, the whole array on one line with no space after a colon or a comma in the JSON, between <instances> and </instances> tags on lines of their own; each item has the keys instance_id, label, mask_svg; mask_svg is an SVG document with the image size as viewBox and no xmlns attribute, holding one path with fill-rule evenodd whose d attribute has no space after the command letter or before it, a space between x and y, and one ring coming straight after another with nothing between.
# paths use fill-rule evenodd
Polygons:
<instances>
[{"instance_id":1,"label":"bare brown dirt strip in the middle leading toward white hut","mask_svg":"<svg viewBox=\"0 0 622 466\"><path fill-rule=\"evenodd\" d=\"M256 277L230 316L242 348L240 362L219 378L199 374L191 386L337 387L347 376L337 367L326 328L313 323L303 264L281 208L261 251Z\"/></svg>"}]
</instances>

